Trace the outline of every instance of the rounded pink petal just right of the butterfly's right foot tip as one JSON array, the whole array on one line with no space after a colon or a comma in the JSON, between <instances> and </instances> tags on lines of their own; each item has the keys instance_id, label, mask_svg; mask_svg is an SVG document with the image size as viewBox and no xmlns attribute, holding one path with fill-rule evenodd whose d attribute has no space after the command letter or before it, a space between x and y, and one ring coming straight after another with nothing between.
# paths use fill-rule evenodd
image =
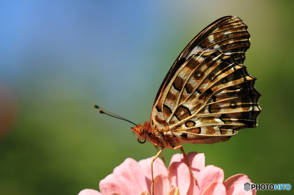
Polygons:
<instances>
[{"instance_id":1,"label":"rounded pink petal just right of the butterfly's right foot tip","mask_svg":"<svg viewBox=\"0 0 294 195\"><path fill-rule=\"evenodd\" d=\"M202 194L204 189L214 181L223 183L223 170L219 167L208 165L197 175L198 186L194 187L193 194Z\"/></svg>"}]
</instances>

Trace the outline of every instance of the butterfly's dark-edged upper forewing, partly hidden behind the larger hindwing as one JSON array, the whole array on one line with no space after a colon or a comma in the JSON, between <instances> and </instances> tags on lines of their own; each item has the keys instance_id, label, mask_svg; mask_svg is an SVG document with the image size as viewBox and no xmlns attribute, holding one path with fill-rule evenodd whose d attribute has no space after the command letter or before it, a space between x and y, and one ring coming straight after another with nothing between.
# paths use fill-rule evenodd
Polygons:
<instances>
[{"instance_id":1,"label":"butterfly's dark-edged upper forewing, partly hidden behind the larger hindwing","mask_svg":"<svg viewBox=\"0 0 294 195\"><path fill-rule=\"evenodd\" d=\"M232 55L238 64L243 64L245 52L250 47L250 35L247 28L248 27L240 18L235 16L225 16L214 21L203 29L185 47L173 63L173 66L161 83L154 100L153 107L176 71L186 61L186 59L194 53L206 49L219 50L225 54Z\"/></svg>"}]
</instances>

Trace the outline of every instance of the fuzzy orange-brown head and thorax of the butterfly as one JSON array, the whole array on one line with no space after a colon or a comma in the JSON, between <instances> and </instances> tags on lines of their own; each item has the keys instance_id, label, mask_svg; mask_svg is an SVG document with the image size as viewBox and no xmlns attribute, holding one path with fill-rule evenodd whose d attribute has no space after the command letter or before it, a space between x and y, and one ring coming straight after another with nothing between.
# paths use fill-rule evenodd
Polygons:
<instances>
[{"instance_id":1,"label":"fuzzy orange-brown head and thorax of the butterfly","mask_svg":"<svg viewBox=\"0 0 294 195\"><path fill-rule=\"evenodd\" d=\"M132 127L131 130L138 138L138 141L146 139L161 148L174 148L180 145L178 138L171 131L152 128L150 122L145 122L143 125L139 124Z\"/></svg>"}]
</instances>

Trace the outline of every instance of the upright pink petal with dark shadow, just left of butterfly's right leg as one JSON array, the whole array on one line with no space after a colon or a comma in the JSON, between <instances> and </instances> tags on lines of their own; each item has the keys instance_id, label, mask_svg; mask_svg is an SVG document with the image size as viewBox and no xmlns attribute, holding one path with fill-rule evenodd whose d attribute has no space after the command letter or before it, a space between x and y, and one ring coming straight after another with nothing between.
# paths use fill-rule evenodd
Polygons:
<instances>
[{"instance_id":1,"label":"upright pink petal with dark shadow, just left of butterfly's right leg","mask_svg":"<svg viewBox=\"0 0 294 195\"><path fill-rule=\"evenodd\" d=\"M191 174L185 163L173 162L168 168L167 176L171 187L179 187L180 194L187 194L191 184Z\"/></svg>"}]
</instances>

